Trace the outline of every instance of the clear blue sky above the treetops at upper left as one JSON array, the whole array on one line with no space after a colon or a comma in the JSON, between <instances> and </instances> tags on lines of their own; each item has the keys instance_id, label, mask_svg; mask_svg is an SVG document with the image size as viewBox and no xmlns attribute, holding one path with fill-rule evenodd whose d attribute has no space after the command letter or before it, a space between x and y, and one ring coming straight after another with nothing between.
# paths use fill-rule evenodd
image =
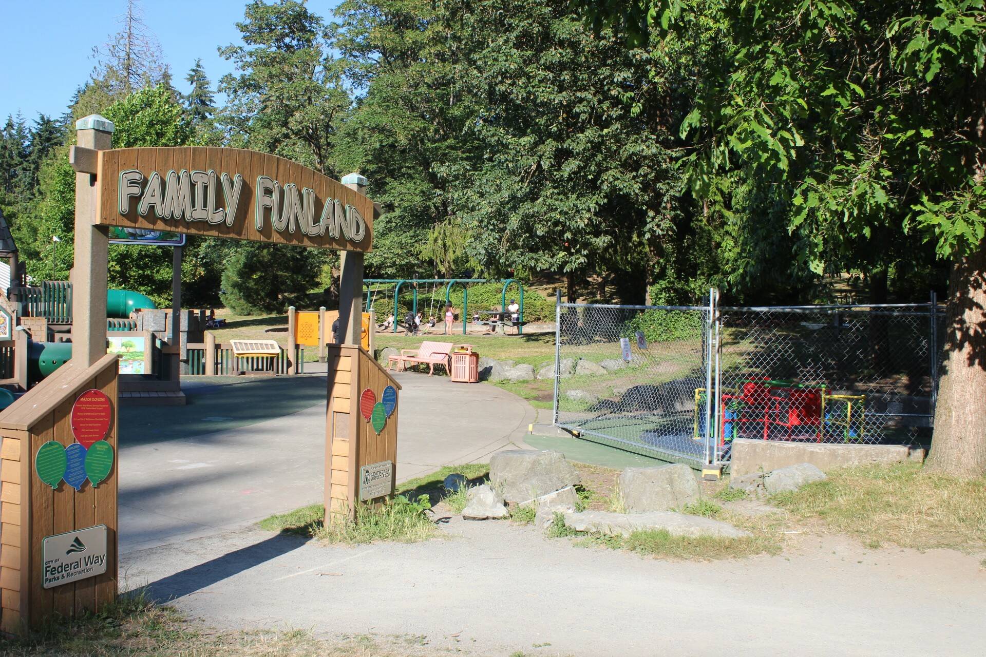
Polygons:
<instances>
[{"instance_id":1,"label":"clear blue sky above the treetops at upper left","mask_svg":"<svg viewBox=\"0 0 986 657\"><path fill-rule=\"evenodd\" d=\"M32 121L38 112L60 116L96 65L93 46L119 30L125 0L3 0L0 12L0 121L18 111ZM338 0L310 0L326 21ZM195 59L215 88L231 62L218 46L241 43L236 23L246 0L144 0L144 23L158 37L178 91Z\"/></svg>"}]
</instances>

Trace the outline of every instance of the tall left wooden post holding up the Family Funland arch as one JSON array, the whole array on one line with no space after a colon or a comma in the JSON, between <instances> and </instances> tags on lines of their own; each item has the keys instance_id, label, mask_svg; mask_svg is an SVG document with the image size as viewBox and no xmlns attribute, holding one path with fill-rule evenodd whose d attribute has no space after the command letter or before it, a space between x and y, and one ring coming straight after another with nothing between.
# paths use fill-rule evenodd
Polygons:
<instances>
[{"instance_id":1,"label":"tall left wooden post holding up the Family Funland arch","mask_svg":"<svg viewBox=\"0 0 986 657\"><path fill-rule=\"evenodd\" d=\"M78 153L110 148L113 124L99 114L75 122ZM109 235L99 219L95 158L70 158L75 169L75 264L72 268L72 359L84 366L106 356L106 261Z\"/></svg>"}]
</instances>

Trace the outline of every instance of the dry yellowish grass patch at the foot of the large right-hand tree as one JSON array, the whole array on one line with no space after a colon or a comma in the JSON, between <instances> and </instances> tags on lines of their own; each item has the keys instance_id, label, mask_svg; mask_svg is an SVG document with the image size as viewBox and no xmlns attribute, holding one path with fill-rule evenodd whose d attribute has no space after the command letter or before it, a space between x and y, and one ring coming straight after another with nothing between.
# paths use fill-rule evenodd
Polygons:
<instances>
[{"instance_id":1,"label":"dry yellowish grass patch at the foot of the large right-hand tree","mask_svg":"<svg viewBox=\"0 0 986 657\"><path fill-rule=\"evenodd\" d=\"M986 478L926 474L916 463L859 466L829 472L828 479L772 502L871 547L986 548Z\"/></svg>"}]
</instances>

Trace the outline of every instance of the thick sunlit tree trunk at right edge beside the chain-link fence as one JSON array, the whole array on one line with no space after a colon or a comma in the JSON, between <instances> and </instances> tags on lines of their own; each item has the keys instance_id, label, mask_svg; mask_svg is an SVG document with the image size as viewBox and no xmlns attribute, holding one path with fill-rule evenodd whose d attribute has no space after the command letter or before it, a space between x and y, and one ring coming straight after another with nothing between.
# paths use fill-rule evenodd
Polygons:
<instances>
[{"instance_id":1,"label":"thick sunlit tree trunk at right edge beside the chain-link fence","mask_svg":"<svg viewBox=\"0 0 986 657\"><path fill-rule=\"evenodd\" d=\"M951 266L946 361L928 471L986 474L986 242Z\"/></svg>"}]
</instances>

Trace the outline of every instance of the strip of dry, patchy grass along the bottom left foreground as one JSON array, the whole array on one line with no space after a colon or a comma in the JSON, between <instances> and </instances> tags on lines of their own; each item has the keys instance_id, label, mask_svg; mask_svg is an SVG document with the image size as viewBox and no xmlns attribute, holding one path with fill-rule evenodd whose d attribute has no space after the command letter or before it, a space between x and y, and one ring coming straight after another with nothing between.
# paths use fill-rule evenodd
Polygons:
<instances>
[{"instance_id":1,"label":"strip of dry, patchy grass along the bottom left foreground","mask_svg":"<svg viewBox=\"0 0 986 657\"><path fill-rule=\"evenodd\" d=\"M99 615L54 621L0 642L4 657L418 657L436 650L415 637L315 638L305 629L215 631L170 607L128 595Z\"/></svg>"}]
</instances>

